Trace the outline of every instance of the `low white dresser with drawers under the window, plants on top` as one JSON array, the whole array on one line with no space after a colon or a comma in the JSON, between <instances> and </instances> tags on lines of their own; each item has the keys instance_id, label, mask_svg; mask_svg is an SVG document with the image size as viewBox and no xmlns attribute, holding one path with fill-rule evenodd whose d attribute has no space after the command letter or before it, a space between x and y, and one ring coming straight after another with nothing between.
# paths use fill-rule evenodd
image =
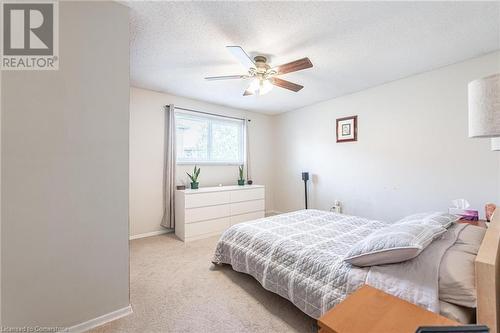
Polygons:
<instances>
[{"instance_id":1,"label":"low white dresser with drawers under the window, plants on top","mask_svg":"<svg viewBox=\"0 0 500 333\"><path fill-rule=\"evenodd\" d=\"M175 191L175 234L185 242L221 234L240 222L264 217L262 185Z\"/></svg>"}]
</instances>

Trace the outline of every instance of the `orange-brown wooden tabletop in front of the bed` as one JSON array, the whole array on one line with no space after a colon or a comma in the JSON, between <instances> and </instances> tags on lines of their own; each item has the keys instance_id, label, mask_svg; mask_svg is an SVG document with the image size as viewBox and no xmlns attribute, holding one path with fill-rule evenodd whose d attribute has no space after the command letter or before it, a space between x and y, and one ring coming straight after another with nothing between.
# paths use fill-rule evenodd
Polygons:
<instances>
[{"instance_id":1,"label":"orange-brown wooden tabletop in front of the bed","mask_svg":"<svg viewBox=\"0 0 500 333\"><path fill-rule=\"evenodd\" d=\"M319 333L415 333L460 323L364 285L319 320Z\"/></svg>"}]
</instances>

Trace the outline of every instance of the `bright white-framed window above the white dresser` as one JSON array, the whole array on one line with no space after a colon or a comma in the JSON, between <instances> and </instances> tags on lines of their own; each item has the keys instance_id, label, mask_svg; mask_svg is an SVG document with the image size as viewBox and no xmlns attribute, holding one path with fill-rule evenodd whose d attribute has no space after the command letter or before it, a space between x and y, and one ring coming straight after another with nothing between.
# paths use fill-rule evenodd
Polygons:
<instances>
[{"instance_id":1,"label":"bright white-framed window above the white dresser","mask_svg":"<svg viewBox=\"0 0 500 333\"><path fill-rule=\"evenodd\" d=\"M244 164L244 120L175 113L178 164Z\"/></svg>"}]
</instances>

